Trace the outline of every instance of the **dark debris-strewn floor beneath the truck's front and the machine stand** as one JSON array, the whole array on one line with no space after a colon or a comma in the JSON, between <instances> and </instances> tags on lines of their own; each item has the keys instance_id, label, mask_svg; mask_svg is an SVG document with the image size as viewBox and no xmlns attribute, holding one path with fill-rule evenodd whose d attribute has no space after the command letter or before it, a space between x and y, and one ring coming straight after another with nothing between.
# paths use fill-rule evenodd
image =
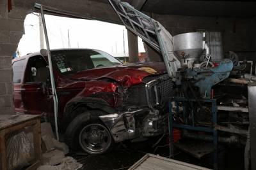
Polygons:
<instances>
[{"instance_id":1,"label":"dark debris-strewn floor beneath the truck's front and the machine stand","mask_svg":"<svg viewBox=\"0 0 256 170\"><path fill-rule=\"evenodd\" d=\"M168 146L164 146L165 143L162 142L158 145L160 147L156 150L156 148L151 147L155 141L156 139L152 139L150 141L146 141L145 143L129 143L128 145L117 146L115 150L104 155L88 155L82 152L73 152L69 153L68 155L74 157L78 162L83 164L83 168L81 170L128 169L146 153L154 153L163 157L168 157ZM243 148L221 148L225 148L225 150L222 149L219 153L219 169L243 169ZM176 155L172 159L212 168L211 154L198 160L184 152L177 150ZM236 162L236 164L234 164L234 162Z\"/></svg>"}]
</instances>

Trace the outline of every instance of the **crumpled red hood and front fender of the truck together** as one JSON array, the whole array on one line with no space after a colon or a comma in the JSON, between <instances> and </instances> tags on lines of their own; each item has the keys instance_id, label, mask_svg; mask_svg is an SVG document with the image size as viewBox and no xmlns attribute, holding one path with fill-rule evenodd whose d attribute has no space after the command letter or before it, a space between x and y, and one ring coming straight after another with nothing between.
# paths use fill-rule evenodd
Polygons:
<instances>
[{"instance_id":1,"label":"crumpled red hood and front fender of the truck together","mask_svg":"<svg viewBox=\"0 0 256 170\"><path fill-rule=\"evenodd\" d=\"M163 62L101 67L60 78L57 87L63 94L66 91L74 92L74 96L100 98L111 106L118 106L120 99L115 93L118 87L129 88L138 85L147 76L164 73Z\"/></svg>"}]
</instances>

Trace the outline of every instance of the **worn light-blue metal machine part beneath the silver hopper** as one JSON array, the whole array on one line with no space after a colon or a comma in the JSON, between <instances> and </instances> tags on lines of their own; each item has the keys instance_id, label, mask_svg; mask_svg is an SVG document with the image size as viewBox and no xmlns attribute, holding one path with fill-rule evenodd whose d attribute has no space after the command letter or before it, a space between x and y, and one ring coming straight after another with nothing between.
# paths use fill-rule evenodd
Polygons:
<instances>
[{"instance_id":1,"label":"worn light-blue metal machine part beneath the silver hopper","mask_svg":"<svg viewBox=\"0 0 256 170\"><path fill-rule=\"evenodd\" d=\"M192 79L193 86L198 87L200 96L209 98L212 86L228 78L233 69L233 62L223 59L219 66L209 69L187 69L187 78Z\"/></svg>"}]
</instances>

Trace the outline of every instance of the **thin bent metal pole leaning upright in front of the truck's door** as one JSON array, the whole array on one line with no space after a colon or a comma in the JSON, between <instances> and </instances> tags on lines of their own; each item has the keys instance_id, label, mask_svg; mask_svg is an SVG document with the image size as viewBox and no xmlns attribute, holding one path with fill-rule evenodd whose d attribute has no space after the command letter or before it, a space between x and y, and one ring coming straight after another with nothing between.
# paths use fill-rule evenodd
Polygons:
<instances>
[{"instance_id":1,"label":"thin bent metal pole leaning upright in front of the truck's door","mask_svg":"<svg viewBox=\"0 0 256 170\"><path fill-rule=\"evenodd\" d=\"M38 5L38 4L37 4ZM42 4L40 5L41 9L41 16L42 16L42 22L44 27L44 36L45 36L45 43L47 47L47 57L48 57L48 64L50 69L50 76L51 76L51 87L52 87L52 97L53 97L53 103L54 103L54 120L55 120L55 130L56 130L56 138L59 141L59 133L58 133L58 97L56 93L56 87L55 87L55 81L54 81L54 75L53 75L53 69L52 69L52 59L51 59L51 51L50 51L50 45L49 45L49 39L45 24L45 18L44 18L44 8Z\"/></svg>"}]
</instances>

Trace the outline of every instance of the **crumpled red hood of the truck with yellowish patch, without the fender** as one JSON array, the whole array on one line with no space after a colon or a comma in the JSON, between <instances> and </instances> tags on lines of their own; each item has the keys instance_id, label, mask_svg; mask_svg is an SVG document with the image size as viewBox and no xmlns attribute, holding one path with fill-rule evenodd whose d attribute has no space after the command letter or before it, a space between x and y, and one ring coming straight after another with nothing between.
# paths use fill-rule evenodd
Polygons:
<instances>
[{"instance_id":1,"label":"crumpled red hood of the truck with yellowish patch, without the fender","mask_svg":"<svg viewBox=\"0 0 256 170\"><path fill-rule=\"evenodd\" d=\"M163 62L148 62L90 69L73 74L70 78L87 81L109 78L124 86L131 86L141 83L146 76L164 73L166 69Z\"/></svg>"}]
</instances>

